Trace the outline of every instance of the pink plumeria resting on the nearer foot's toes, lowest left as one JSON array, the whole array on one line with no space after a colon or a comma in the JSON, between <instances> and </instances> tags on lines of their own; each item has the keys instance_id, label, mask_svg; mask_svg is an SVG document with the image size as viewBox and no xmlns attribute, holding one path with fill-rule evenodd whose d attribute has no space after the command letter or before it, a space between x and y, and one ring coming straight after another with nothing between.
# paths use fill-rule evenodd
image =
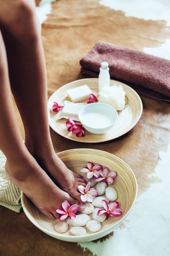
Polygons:
<instances>
[{"instance_id":1,"label":"pink plumeria resting on the nearer foot's toes, lowest left","mask_svg":"<svg viewBox=\"0 0 170 256\"><path fill-rule=\"evenodd\" d=\"M59 220L65 220L67 217L70 217L70 219L75 219L76 215L75 212L78 211L78 205L71 205L67 201L62 202L62 208L57 209L56 212L61 214L61 216L58 218Z\"/></svg>"}]
</instances>

